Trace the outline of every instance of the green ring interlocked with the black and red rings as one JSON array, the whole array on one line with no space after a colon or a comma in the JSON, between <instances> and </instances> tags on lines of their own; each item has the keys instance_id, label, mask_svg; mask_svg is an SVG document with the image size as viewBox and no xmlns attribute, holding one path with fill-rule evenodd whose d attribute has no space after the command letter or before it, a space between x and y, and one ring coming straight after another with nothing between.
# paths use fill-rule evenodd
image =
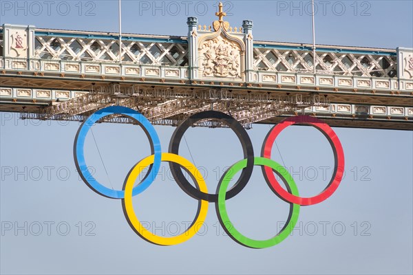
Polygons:
<instances>
[{"instance_id":1,"label":"green ring interlocked with the black and red rings","mask_svg":"<svg viewBox=\"0 0 413 275\"><path fill-rule=\"evenodd\" d=\"M288 191L295 196L299 196L298 189L295 185L293 177L291 177L290 173L288 173L282 165L278 164L272 159L267 159L265 157L254 157L254 165L268 166L273 168L275 173L282 177ZM260 241L250 239L241 234L238 230L235 229L235 227L232 226L231 220L228 217L225 206L225 194L226 189L229 186L229 182L231 181L233 176L239 170L245 167L246 159L243 159L226 170L224 176L221 178L220 184L218 184L218 201L215 203L218 219L220 220L222 228L224 228L226 233L231 236L231 238L237 243L240 243L241 245L244 245L248 248L270 248L271 246L277 245L278 243L284 241L284 239L286 239L290 232L293 231L298 220L299 204L290 203L290 215L287 219L286 225L284 225L284 228L282 228L282 230L271 239Z\"/></svg>"}]
</instances>

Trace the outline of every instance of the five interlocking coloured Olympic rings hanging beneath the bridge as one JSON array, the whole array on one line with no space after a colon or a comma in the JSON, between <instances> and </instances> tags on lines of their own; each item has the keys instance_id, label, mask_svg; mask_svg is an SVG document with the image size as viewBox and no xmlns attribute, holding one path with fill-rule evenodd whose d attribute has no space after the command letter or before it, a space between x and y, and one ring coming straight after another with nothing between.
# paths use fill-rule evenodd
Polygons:
<instances>
[{"instance_id":1,"label":"five interlocking coloured Olympic rings hanging beneath the bridge","mask_svg":"<svg viewBox=\"0 0 413 275\"><path fill-rule=\"evenodd\" d=\"M83 147L85 146L85 137L92 125L100 120L100 118L104 118L105 116L112 114L125 115L138 122L138 124L142 126L142 129L147 134L147 137L149 138L149 142L151 144L151 155L149 155L149 157L145 157L131 168L124 181L123 190L109 189L100 184L96 179L94 179L92 174L89 173L89 170L87 170L83 151ZM189 126L193 125L195 122L208 118L221 120L222 122L226 123L231 129L233 129L237 137L240 139L244 152L244 159L233 164L231 168L226 170L224 176L220 179L216 194L208 193L207 184L205 183L205 180L202 176L200 178L195 178L195 175L201 175L198 168L191 164L189 160L178 155L180 140L182 139L184 132L187 131ZM324 136L326 136L334 153L335 170L333 172L332 179L330 180L328 186L319 195L316 195L314 197L299 197L299 192L297 186L295 185L293 177L291 177L291 175L288 173L287 175L284 175L285 169L283 169L284 173L282 173L280 171L282 169L282 166L271 159L271 148L273 146L273 143L275 142L275 138L287 126L293 124L309 124L311 126L315 126L315 128L317 128L319 131L321 131L321 133L324 134ZM343 148L335 132L332 131L330 126L321 122L321 120L305 115L286 118L279 124L275 125L264 140L264 143L262 145L262 157L254 157L251 140L245 129L239 122L237 122L237 120L232 118L230 115L218 111L204 111L195 115L191 115L191 117L182 122L182 124L177 127L176 131L172 135L171 142L169 143L169 153L162 153L158 134L156 133L149 120L147 120L147 118L145 118L137 111L134 111L133 109L113 106L101 109L100 111L96 111L96 113L91 115L89 118L87 118L87 120L85 120L85 122L83 122L83 124L78 129L78 132L76 133L73 152L78 173L81 175L83 181L85 181L87 186L94 190L94 192L97 192L98 194L105 197L122 199L123 212L131 228L136 232L136 234L141 236L142 239L145 239L146 241L155 243L157 245L176 245L178 243L182 243L191 239L191 237L195 235L198 230L200 230L200 225L204 223L207 217L209 202L215 202L215 211L217 212L218 219L222 225L222 228L224 228L231 239L233 239L237 243L240 243L241 245L249 248L268 248L273 245L277 245L277 243L284 241L284 239L286 239L286 237L293 230L295 224L297 223L300 206L308 206L324 201L325 199L330 197L332 193L335 192L335 190L337 190L337 187L339 186L343 177L344 168ZM158 171L160 169L161 162L169 162L173 177L180 188L182 188L184 192L187 192L187 194L191 197L198 199L198 211L195 215L195 218L193 219L193 222L191 223L187 231L178 236L157 236L147 230L147 228L145 228L136 217L134 207L132 205L132 197L138 195L140 192L148 188L149 185L155 180L156 175L158 174ZM262 166L264 178L266 179L266 183L271 188L271 190L273 190L278 197L290 203L290 213L288 215L288 219L284 228L282 228L282 230L271 239L264 241L249 239L248 237L238 232L235 228L233 228L233 226L229 226L231 221L229 219L228 213L226 212L225 206L226 199L231 199L239 192L241 192L241 190L246 186L247 182L251 178L253 166L255 165ZM140 175L142 170L147 166L150 167L149 172L140 182L140 184L134 187L134 183L138 175ZM184 177L181 167L187 170L187 172L195 182L196 188L193 187ZM231 181L233 175L235 175L235 173L237 173L239 170L242 170L240 179L238 179L233 188L227 190L229 181ZM282 188L277 179L275 179L274 173L277 173L277 175L281 177L282 181L286 185L287 190Z\"/></svg>"}]
</instances>

